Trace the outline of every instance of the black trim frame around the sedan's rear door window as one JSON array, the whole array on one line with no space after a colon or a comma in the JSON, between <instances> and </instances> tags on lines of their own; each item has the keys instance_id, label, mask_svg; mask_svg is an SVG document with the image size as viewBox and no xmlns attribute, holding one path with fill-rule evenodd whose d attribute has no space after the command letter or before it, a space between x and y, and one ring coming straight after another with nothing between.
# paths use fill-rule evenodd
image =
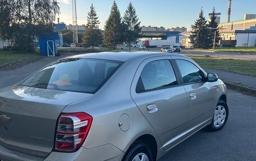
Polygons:
<instances>
[{"instance_id":1,"label":"black trim frame around the sedan's rear door window","mask_svg":"<svg viewBox=\"0 0 256 161\"><path fill-rule=\"evenodd\" d=\"M136 91L137 86L138 86L138 82L139 82L139 79L138 79L138 80L136 81L135 93L137 93L137 94L146 93L146 92L149 92L149 91L155 91L155 90L162 90L162 89L174 88L174 87L177 87L177 86L181 86L181 85L182 85L181 82L180 82L180 76L177 75L177 73L176 73L176 69L175 69L176 67L172 65L172 59L171 59L171 58L170 58L170 59L157 59L157 60L154 60L154 61L149 61L148 63L150 63L150 62L155 62L155 61L164 61L164 60L169 61L170 65L171 65L171 67L172 67L173 73L174 73L174 75L175 75L175 77L176 77L177 85L169 85L169 86L163 86L163 87L158 87L158 88L153 88L153 89L147 89L147 90L143 90L143 91ZM148 63L146 63L145 66L146 66ZM139 78L140 78L140 74L141 74L141 72L143 71L143 69L144 69L145 66L143 66L142 70L140 71L140 73L139 73Z\"/></svg>"}]
</instances>

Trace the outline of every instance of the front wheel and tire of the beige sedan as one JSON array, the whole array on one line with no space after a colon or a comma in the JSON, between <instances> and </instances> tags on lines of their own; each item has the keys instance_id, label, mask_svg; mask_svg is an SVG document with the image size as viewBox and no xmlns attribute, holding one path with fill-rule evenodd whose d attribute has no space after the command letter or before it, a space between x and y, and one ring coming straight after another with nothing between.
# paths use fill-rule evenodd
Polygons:
<instances>
[{"instance_id":1,"label":"front wheel and tire of the beige sedan","mask_svg":"<svg viewBox=\"0 0 256 161\"><path fill-rule=\"evenodd\" d=\"M226 125L227 118L228 118L227 103L223 100L219 100L214 111L212 123L211 125L207 126L207 129L209 131L221 130Z\"/></svg>"}]
</instances>

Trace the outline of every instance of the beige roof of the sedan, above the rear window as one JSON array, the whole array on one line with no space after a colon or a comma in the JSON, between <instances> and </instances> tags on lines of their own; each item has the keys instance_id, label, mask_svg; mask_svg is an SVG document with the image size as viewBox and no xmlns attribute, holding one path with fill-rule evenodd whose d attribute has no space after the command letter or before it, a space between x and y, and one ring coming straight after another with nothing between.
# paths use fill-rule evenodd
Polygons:
<instances>
[{"instance_id":1,"label":"beige roof of the sedan, above the rear window","mask_svg":"<svg viewBox=\"0 0 256 161\"><path fill-rule=\"evenodd\" d=\"M137 59L137 58L147 59L147 58L156 57L156 56L186 57L186 56L183 56L182 54L161 53L161 52L100 52L100 53L80 54L80 55L71 56L68 58L108 59L113 61L126 62L129 59Z\"/></svg>"}]
</instances>

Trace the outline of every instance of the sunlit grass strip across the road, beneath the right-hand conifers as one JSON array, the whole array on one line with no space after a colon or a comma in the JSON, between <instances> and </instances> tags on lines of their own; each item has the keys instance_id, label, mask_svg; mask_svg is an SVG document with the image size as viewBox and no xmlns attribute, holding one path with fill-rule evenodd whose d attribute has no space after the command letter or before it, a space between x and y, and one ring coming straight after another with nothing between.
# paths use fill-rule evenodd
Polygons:
<instances>
[{"instance_id":1,"label":"sunlit grass strip across the road, beneath the right-hand conifers","mask_svg":"<svg viewBox=\"0 0 256 161\"><path fill-rule=\"evenodd\" d=\"M213 49L196 49L196 50L213 51ZM214 51L256 54L256 47L215 48Z\"/></svg>"}]
</instances>

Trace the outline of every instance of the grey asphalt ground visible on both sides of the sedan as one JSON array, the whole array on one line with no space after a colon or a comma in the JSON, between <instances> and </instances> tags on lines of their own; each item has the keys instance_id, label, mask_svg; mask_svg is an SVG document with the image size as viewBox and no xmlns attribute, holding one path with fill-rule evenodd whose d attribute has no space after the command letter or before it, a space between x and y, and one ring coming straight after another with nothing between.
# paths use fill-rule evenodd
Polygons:
<instances>
[{"instance_id":1,"label":"grey asphalt ground visible on both sides of the sedan","mask_svg":"<svg viewBox=\"0 0 256 161\"><path fill-rule=\"evenodd\" d=\"M60 58L60 57L57 57ZM0 88L24 79L55 58L0 71ZM255 160L256 98L228 90L230 115L226 126L218 132L199 131L164 155L167 160Z\"/></svg>"}]
</instances>

